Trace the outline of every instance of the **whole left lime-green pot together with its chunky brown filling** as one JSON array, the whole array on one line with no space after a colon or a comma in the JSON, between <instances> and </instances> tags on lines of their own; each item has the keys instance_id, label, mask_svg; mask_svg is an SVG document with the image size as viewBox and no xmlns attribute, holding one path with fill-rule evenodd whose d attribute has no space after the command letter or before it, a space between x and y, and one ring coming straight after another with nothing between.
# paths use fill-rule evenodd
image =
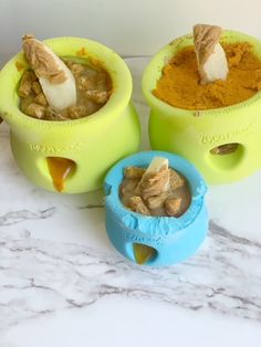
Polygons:
<instances>
[{"instance_id":1,"label":"whole left lime-green pot together with its chunky brown filling","mask_svg":"<svg viewBox=\"0 0 261 347\"><path fill-rule=\"evenodd\" d=\"M49 61L41 54L38 62L31 59L35 74L22 52L0 73L0 112L11 128L14 159L31 181L48 190L80 193L101 188L111 166L139 146L130 73L115 52L87 39L55 38L45 46L71 69L67 84L62 70L44 70ZM75 88L71 82L77 73L82 75ZM86 99L74 104L83 95Z\"/></svg>"}]
</instances>

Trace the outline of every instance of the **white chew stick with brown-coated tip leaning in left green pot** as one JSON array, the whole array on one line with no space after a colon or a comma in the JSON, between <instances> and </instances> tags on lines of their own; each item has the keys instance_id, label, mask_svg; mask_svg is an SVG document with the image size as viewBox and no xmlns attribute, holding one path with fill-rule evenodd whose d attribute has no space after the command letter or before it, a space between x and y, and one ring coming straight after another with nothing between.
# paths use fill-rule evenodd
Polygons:
<instances>
[{"instance_id":1,"label":"white chew stick with brown-coated tip leaning in left green pot","mask_svg":"<svg viewBox=\"0 0 261 347\"><path fill-rule=\"evenodd\" d=\"M23 38L23 51L34 70L49 105L62 111L76 104L76 85L63 61L41 41Z\"/></svg>"}]
</instances>

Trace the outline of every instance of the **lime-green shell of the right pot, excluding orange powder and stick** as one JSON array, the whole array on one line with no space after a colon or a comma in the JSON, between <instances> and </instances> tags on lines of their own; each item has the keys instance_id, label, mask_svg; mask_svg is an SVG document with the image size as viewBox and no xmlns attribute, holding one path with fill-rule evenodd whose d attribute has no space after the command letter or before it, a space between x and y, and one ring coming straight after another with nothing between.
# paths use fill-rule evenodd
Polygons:
<instances>
[{"instance_id":1,"label":"lime-green shell of the right pot, excluding orange powder and stick","mask_svg":"<svg viewBox=\"0 0 261 347\"><path fill-rule=\"evenodd\" d=\"M250 42L261 57L261 42L249 35L225 31L223 42ZM166 62L182 48L192 45L192 35L179 38L160 50L146 67L143 92L152 108L149 139L153 149L171 151L191 160L209 183L231 182L261 167L261 93L234 106L210 111L173 107L153 95ZM240 144L226 156L210 154L213 147Z\"/></svg>"}]
</instances>

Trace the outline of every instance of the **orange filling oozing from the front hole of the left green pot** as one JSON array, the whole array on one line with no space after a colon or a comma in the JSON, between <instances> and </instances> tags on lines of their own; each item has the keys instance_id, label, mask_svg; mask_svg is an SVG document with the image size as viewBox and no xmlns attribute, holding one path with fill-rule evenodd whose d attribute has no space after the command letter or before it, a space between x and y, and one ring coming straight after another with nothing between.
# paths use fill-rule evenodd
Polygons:
<instances>
[{"instance_id":1,"label":"orange filling oozing from the front hole of the left green pot","mask_svg":"<svg viewBox=\"0 0 261 347\"><path fill-rule=\"evenodd\" d=\"M49 157L46 160L53 186L59 192L62 192L64 190L64 182L75 169L76 164L71 159L59 157Z\"/></svg>"}]
</instances>

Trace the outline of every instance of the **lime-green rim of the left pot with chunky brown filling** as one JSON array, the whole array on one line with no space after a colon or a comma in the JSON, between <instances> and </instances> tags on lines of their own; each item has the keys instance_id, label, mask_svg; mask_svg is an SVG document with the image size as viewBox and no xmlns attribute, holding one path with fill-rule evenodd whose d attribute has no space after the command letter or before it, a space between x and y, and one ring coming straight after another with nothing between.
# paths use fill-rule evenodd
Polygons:
<instances>
[{"instance_id":1,"label":"lime-green rim of the left pot with chunky brown filling","mask_svg":"<svg viewBox=\"0 0 261 347\"><path fill-rule=\"evenodd\" d=\"M43 42L61 56L79 57L76 52L84 49L86 53L80 57L90 59L104 66L113 81L113 93L103 107L86 117L70 120L45 120L30 117L18 107L20 97L17 94L17 86L22 73L28 69L24 54L20 51L0 72L0 112L8 123L48 128L75 127L86 123L104 122L106 118L111 119L128 105L133 88L132 75L126 63L113 50L96 41L75 36L53 38ZM75 54L71 52L75 52ZM21 64L23 67L19 71L17 64Z\"/></svg>"}]
</instances>

